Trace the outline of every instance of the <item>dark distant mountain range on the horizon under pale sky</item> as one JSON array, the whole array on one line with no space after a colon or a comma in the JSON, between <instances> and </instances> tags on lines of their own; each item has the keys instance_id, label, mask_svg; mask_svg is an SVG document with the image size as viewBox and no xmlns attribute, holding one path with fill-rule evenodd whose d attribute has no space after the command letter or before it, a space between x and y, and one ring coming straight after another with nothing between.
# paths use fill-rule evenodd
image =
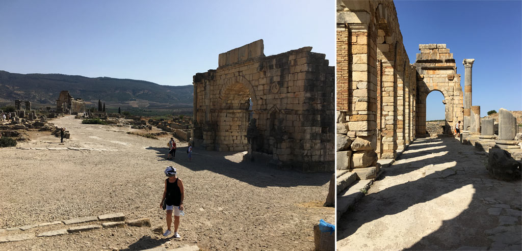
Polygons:
<instances>
[{"instance_id":1,"label":"dark distant mountain range on the horizon under pale sky","mask_svg":"<svg viewBox=\"0 0 522 251\"><path fill-rule=\"evenodd\" d=\"M118 78L88 78L63 74L17 74L0 70L0 98L55 104L60 91L73 98L108 103L145 103L192 105L192 85L161 86L157 83ZM137 102L134 102L137 101ZM155 106L158 106L156 104Z\"/></svg>"}]
</instances>

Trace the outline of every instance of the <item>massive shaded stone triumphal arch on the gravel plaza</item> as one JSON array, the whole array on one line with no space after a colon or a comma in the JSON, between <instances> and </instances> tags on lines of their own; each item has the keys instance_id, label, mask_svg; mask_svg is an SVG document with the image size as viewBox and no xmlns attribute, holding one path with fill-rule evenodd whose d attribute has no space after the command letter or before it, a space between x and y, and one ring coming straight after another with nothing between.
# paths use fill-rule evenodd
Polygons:
<instances>
[{"instance_id":1,"label":"massive shaded stone triumphal arch on the gravel plaza","mask_svg":"<svg viewBox=\"0 0 522 251\"><path fill-rule=\"evenodd\" d=\"M221 53L216 70L194 76L194 144L333 171L334 67L311 50L265 56L258 40Z\"/></svg>"}]
</instances>

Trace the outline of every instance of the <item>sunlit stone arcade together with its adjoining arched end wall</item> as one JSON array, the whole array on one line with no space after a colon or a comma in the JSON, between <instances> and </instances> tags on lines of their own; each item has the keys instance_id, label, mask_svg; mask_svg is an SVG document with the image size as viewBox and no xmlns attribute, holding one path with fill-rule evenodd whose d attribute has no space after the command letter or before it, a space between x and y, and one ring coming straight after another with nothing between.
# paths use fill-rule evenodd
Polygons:
<instances>
[{"instance_id":1,"label":"sunlit stone arcade together with its adjoining arched end wall","mask_svg":"<svg viewBox=\"0 0 522 251\"><path fill-rule=\"evenodd\" d=\"M446 133L464 118L460 75L446 44L420 44L415 64L392 1L337 2L337 169L373 178L426 134L426 97L444 95Z\"/></svg>"}]
</instances>

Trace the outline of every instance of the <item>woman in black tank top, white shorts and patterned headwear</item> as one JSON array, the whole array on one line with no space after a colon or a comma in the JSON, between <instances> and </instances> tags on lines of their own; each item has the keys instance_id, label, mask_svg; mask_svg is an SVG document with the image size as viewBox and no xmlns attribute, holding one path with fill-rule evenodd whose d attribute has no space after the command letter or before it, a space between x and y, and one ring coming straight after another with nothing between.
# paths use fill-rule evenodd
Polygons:
<instances>
[{"instance_id":1,"label":"woman in black tank top, white shorts and patterned headwear","mask_svg":"<svg viewBox=\"0 0 522 251\"><path fill-rule=\"evenodd\" d=\"M180 211L183 211L183 198L185 197L183 182L181 178L177 177L176 169L172 166L165 169L165 175L168 178L165 179L165 189L160 203L161 209L163 209L163 204L166 205L165 209L167 209L167 231L163 233L163 236L169 236L172 233L170 226L172 224L172 211L174 211L174 238L180 238L177 227L180 225Z\"/></svg>"}]
</instances>

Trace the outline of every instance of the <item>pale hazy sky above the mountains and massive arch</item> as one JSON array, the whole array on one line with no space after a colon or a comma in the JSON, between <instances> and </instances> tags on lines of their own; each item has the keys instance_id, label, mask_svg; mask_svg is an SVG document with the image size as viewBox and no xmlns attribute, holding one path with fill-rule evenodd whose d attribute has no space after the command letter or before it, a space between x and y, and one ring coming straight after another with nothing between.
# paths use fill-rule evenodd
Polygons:
<instances>
[{"instance_id":1,"label":"pale hazy sky above the mountains and massive arch","mask_svg":"<svg viewBox=\"0 0 522 251\"><path fill-rule=\"evenodd\" d=\"M265 55L312 46L335 65L335 3L0 1L0 70L191 85L218 54L263 39Z\"/></svg>"}]
</instances>

